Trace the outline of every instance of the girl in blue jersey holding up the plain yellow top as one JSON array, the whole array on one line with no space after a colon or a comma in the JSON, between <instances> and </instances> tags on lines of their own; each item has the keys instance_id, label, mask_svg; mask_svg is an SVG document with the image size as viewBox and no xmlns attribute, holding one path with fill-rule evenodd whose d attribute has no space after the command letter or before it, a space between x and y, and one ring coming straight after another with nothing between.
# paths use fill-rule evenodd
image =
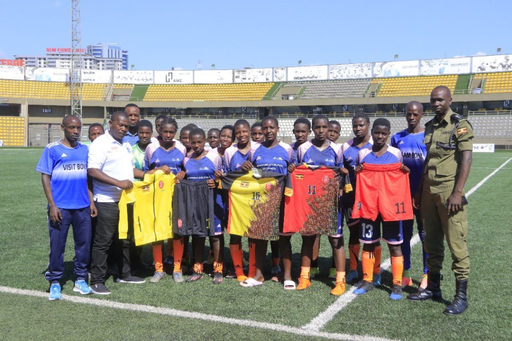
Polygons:
<instances>
[{"instance_id":1,"label":"girl in blue jersey holding up the plain yellow top","mask_svg":"<svg viewBox=\"0 0 512 341\"><path fill-rule=\"evenodd\" d=\"M144 171L151 171L153 169L161 169L165 173L173 173L177 175L183 170L183 160L185 158L185 147L182 144L177 144L174 140L176 131L178 130L178 123L169 117L160 120L160 131L158 139L159 143L151 144L145 149L144 155ZM178 178L178 177L177 177ZM183 174L180 175L183 178ZM173 252L173 239L167 240L168 252ZM150 279L152 283L158 283L163 277L166 276L163 271L163 256L162 248L163 242L158 241L152 243L153 246L153 260L155 261L155 275Z\"/></svg>"}]
</instances>

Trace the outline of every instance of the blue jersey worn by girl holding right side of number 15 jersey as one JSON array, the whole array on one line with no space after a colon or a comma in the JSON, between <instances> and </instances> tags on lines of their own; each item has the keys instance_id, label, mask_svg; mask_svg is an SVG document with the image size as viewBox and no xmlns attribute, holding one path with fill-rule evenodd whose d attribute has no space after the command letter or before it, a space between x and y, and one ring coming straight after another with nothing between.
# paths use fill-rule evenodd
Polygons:
<instances>
[{"instance_id":1,"label":"blue jersey worn by girl holding right side of number 15 jersey","mask_svg":"<svg viewBox=\"0 0 512 341\"><path fill-rule=\"evenodd\" d=\"M249 151L249 158L256 168L280 174L287 174L288 165L295 163L293 149L284 142L280 142L273 148L261 145L254 152Z\"/></svg>"}]
</instances>

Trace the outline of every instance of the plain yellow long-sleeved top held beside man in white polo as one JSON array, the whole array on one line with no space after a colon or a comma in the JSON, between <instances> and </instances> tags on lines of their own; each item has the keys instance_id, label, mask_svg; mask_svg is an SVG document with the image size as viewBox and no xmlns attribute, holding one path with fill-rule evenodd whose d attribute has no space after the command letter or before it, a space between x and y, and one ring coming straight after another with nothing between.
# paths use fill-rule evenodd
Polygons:
<instances>
[{"instance_id":1,"label":"plain yellow long-sleeved top held beside man in white polo","mask_svg":"<svg viewBox=\"0 0 512 341\"><path fill-rule=\"evenodd\" d=\"M174 174L156 171L124 190L119 200L119 238L125 239L133 224L135 245L173 237Z\"/></svg>"}]
</instances>

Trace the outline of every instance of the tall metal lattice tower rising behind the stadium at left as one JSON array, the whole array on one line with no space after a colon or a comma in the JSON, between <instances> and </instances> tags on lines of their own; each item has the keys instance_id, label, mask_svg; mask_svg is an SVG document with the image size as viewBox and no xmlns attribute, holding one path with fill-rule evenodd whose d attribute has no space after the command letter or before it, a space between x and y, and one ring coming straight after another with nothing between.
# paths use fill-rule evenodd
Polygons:
<instances>
[{"instance_id":1,"label":"tall metal lattice tower rising behind the stadium at left","mask_svg":"<svg viewBox=\"0 0 512 341\"><path fill-rule=\"evenodd\" d=\"M82 41L80 0L71 0L71 113L82 118Z\"/></svg>"}]
</instances>

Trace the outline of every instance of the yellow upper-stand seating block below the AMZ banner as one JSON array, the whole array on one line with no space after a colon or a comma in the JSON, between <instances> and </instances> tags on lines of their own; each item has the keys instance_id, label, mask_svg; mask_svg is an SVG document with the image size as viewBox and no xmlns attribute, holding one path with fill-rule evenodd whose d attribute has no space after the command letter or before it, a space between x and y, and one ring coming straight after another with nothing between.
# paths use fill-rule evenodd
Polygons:
<instances>
[{"instance_id":1,"label":"yellow upper-stand seating block below the AMZ banner","mask_svg":"<svg viewBox=\"0 0 512 341\"><path fill-rule=\"evenodd\" d=\"M274 83L152 84L144 101L259 101Z\"/></svg>"}]
</instances>

